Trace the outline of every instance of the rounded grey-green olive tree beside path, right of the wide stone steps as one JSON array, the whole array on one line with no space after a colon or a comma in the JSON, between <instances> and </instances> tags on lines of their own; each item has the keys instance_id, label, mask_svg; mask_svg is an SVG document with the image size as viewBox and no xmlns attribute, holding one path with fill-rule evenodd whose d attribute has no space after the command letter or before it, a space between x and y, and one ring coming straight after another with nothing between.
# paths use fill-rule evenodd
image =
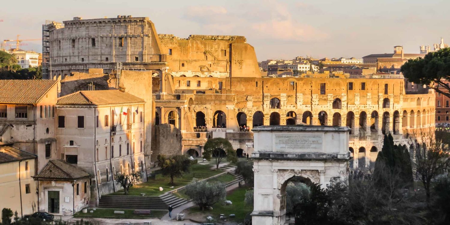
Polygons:
<instances>
[{"instance_id":1,"label":"rounded grey-green olive tree beside path, right of the wide stone steps","mask_svg":"<svg viewBox=\"0 0 450 225\"><path fill-rule=\"evenodd\" d=\"M196 178L186 185L184 192L200 207L200 210L204 210L216 202L224 201L226 196L224 183L200 181Z\"/></svg>"}]
</instances>

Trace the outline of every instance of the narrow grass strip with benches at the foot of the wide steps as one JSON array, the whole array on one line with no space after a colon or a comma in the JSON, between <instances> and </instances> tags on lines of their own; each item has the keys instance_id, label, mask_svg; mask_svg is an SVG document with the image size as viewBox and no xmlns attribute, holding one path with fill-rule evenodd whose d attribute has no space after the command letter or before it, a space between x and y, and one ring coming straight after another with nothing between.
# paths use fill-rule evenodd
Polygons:
<instances>
[{"instance_id":1,"label":"narrow grass strip with benches at the foot of the wide steps","mask_svg":"<svg viewBox=\"0 0 450 225\"><path fill-rule=\"evenodd\" d=\"M166 210L151 210L150 215L135 215L133 214L134 209L106 209L106 208L96 208L94 213L90 213L92 210L88 208L87 213L79 211L75 213L75 218L114 218L114 219L146 219L146 218L158 218L161 219L162 216L166 215ZM114 214L114 211L125 211L125 214Z\"/></svg>"}]
</instances>

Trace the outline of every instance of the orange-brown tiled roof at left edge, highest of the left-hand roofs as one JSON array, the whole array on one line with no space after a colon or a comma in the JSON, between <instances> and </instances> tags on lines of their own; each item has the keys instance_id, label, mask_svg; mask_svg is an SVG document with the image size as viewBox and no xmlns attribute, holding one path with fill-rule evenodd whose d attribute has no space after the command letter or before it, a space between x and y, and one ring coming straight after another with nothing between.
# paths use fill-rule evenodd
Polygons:
<instances>
[{"instance_id":1,"label":"orange-brown tiled roof at left edge, highest of the left-hand roofs","mask_svg":"<svg viewBox=\"0 0 450 225\"><path fill-rule=\"evenodd\" d=\"M54 80L0 80L0 103L38 103L56 83Z\"/></svg>"}]
</instances>

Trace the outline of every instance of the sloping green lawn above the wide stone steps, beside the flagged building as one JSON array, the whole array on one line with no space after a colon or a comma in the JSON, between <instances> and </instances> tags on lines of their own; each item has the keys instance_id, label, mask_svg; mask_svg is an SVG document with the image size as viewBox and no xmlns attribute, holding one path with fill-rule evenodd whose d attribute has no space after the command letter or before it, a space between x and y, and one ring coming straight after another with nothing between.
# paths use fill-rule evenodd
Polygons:
<instances>
[{"instance_id":1,"label":"sloping green lawn above the wide stone steps, beside the flagged building","mask_svg":"<svg viewBox=\"0 0 450 225\"><path fill-rule=\"evenodd\" d=\"M205 179L213 175L223 173L223 170L211 170L211 166L200 164L193 164L191 166L191 171L184 174L182 177L175 177L174 184L169 184L170 177L163 177L161 174L156 175L155 180L148 180L142 184L136 184L129 190L130 195L140 195L140 193L145 193L146 196L158 196L167 191L182 187L192 180L192 178ZM173 188L170 188L172 187ZM159 187L163 188L163 191L159 190ZM115 193L110 193L111 195L122 195L123 190L117 191Z\"/></svg>"}]
</instances>

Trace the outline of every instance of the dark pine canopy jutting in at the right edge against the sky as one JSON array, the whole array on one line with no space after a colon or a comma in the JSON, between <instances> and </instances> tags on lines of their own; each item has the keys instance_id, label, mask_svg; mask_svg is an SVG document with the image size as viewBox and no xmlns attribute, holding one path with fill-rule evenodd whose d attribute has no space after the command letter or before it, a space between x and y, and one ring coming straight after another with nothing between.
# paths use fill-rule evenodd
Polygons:
<instances>
[{"instance_id":1,"label":"dark pine canopy jutting in at the right edge against the sky","mask_svg":"<svg viewBox=\"0 0 450 225\"><path fill-rule=\"evenodd\" d=\"M401 72L408 81L429 85L450 98L450 86L444 81L450 80L450 48L430 52L424 58L409 59L401 66ZM439 90L440 87L446 91Z\"/></svg>"}]
</instances>

